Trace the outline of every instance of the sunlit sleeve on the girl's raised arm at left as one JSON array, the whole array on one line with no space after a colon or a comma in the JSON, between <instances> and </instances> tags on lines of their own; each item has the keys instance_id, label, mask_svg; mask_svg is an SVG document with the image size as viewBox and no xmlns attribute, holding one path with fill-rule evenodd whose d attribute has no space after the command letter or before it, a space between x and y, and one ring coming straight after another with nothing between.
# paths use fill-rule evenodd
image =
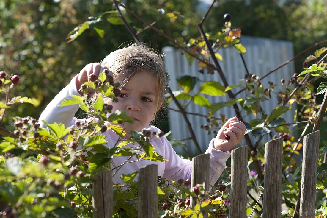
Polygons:
<instances>
[{"instance_id":1,"label":"sunlit sleeve on the girl's raised arm at left","mask_svg":"<svg viewBox=\"0 0 327 218\"><path fill-rule=\"evenodd\" d=\"M58 105L60 105L64 99L72 99L72 94L80 96L76 89L75 80L76 78L74 77L68 86L63 88L43 110L39 118L39 123L42 128L46 127L46 125L42 122L43 120L48 123L63 123L66 127L74 125L75 120L77 120L77 118L74 118L74 115L78 110L79 105L77 104L64 107L59 107Z\"/></svg>"}]
</instances>

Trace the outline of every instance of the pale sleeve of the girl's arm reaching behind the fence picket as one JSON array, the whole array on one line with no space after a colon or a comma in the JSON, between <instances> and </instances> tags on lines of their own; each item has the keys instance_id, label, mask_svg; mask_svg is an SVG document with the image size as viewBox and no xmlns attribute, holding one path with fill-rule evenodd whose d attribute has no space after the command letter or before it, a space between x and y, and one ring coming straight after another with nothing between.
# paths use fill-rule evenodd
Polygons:
<instances>
[{"instance_id":1,"label":"pale sleeve of the girl's arm reaching behind the fence picket","mask_svg":"<svg viewBox=\"0 0 327 218\"><path fill-rule=\"evenodd\" d=\"M191 180L192 161L181 159L177 156L169 141L165 137L162 140L165 148L165 158L168 159L165 162L163 177L173 181L178 181L178 179ZM205 152L210 154L209 184L212 186L215 185L223 172L226 160L231 156L231 150L227 152L217 150L213 147L213 143L214 139L210 141L209 148Z\"/></svg>"}]
</instances>

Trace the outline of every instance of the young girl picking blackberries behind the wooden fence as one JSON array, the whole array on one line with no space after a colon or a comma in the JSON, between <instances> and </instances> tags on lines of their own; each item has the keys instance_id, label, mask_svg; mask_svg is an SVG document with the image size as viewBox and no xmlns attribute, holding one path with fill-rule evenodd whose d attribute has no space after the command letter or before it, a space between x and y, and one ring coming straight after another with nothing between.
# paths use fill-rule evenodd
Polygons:
<instances>
[{"instance_id":1,"label":"young girl picking blackberries behind the wooden fence","mask_svg":"<svg viewBox=\"0 0 327 218\"><path fill-rule=\"evenodd\" d=\"M41 114L39 120L41 127L46 127L43 120L48 123L63 123L66 127L74 126L78 121L74 117L78 110L78 105L58 107L66 98L72 98L71 94L80 95L78 89L80 85L87 82L92 73L99 75L104 69L112 72L114 82L120 83L120 95L118 102L112 103L107 99L107 103L113 106L112 112L117 109L124 109L128 116L134 119L134 123L125 123L125 131L142 131L143 129L151 132L158 132L160 129L149 126L155 119L157 111L162 106L163 94L165 90L165 72L163 62L158 54L142 44L133 44L129 47L116 50L105 57L101 64L92 63L86 65L70 82L68 86L49 103ZM106 101L106 100L105 100ZM83 122L84 120L80 120ZM246 127L244 123L237 120L237 117L230 118L218 131L216 138L210 141L205 153L211 154L210 159L210 185L214 185L221 175L226 160L230 157L232 148L238 145L244 136ZM113 143L119 140L119 136L109 129L103 133L108 141L108 147L113 147ZM230 136L225 140L224 136ZM128 139L129 135L126 136ZM167 180L177 181L178 179L191 179L192 162L181 159L177 156L168 140L163 136L154 137L151 141L155 151L168 161L152 162L149 160L136 161L133 157L113 157L112 166L119 166L129 159L128 163L119 169L119 173L113 172L114 183L124 183L120 179L120 174L130 174L139 168L149 165L158 165L158 175ZM136 177L138 179L138 177Z\"/></svg>"}]
</instances>

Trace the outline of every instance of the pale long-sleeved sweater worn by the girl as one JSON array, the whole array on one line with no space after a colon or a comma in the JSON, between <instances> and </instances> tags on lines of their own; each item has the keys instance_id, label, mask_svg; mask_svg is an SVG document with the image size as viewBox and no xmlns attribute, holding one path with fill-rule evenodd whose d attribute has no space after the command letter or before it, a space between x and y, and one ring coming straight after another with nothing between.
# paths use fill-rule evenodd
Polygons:
<instances>
[{"instance_id":1,"label":"pale long-sleeved sweater worn by the girl","mask_svg":"<svg viewBox=\"0 0 327 218\"><path fill-rule=\"evenodd\" d=\"M78 119L75 118L74 115L79 106L71 105L66 107L58 107L58 105L60 105L64 99L72 98L71 94L80 95L76 88L75 78L70 82L68 86L62 89L59 94L44 109L39 118L41 127L46 127L46 125L42 122L43 120L47 121L48 123L63 123L66 127L75 125L75 121L77 121ZM151 132L160 131L160 129L154 126L147 126L145 129L148 129ZM116 143L119 138L119 136L111 129L107 130L103 134L106 136L106 140L108 141L106 146L108 146L109 148L112 147L113 144ZM215 182L218 180L219 176L225 168L226 160L231 156L231 150L227 152L217 150L213 147L213 142L214 139L210 141L209 147L205 152L211 155L210 185L214 185ZM165 159L168 159L168 161L153 162L149 160L142 160L125 164L119 169L118 173L115 173L115 175L113 176L112 179L114 183L124 183L120 179L120 175L122 173L130 174L139 170L141 167L144 167L149 164L158 165L158 175L166 178L167 180L177 181L180 178L184 180L191 180L192 161L181 159L176 154L174 149L171 147L169 141L164 136L160 138L155 137L151 140L151 144L154 146L155 151L162 155ZM129 157L113 157L112 164L114 166L119 166L125 163L127 158ZM133 160L136 160L136 158L132 157L131 159L129 159L129 162ZM138 177L136 176L135 179L137 180Z\"/></svg>"}]
</instances>

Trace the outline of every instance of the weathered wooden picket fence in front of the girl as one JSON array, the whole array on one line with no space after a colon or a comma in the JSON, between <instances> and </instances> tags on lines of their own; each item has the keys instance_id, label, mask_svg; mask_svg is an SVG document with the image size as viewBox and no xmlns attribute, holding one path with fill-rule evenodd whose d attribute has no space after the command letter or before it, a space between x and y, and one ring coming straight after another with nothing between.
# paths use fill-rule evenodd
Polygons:
<instances>
[{"instance_id":1,"label":"weathered wooden picket fence in front of the girl","mask_svg":"<svg viewBox=\"0 0 327 218\"><path fill-rule=\"evenodd\" d=\"M320 130L303 138L301 174L301 217L315 217L316 178L318 167ZM283 139L270 140L265 144L265 175L263 190L263 217L281 217L282 212L282 156ZM191 187L209 184L210 154L192 159ZM232 151L231 189L229 217L247 217L248 148L242 146ZM157 217L157 165L148 165L139 171L138 217ZM93 217L112 217L112 174L105 171L95 176L93 189ZM208 186L206 186L208 189ZM191 198L191 205L193 204ZM207 217L207 216L204 216Z\"/></svg>"}]
</instances>

